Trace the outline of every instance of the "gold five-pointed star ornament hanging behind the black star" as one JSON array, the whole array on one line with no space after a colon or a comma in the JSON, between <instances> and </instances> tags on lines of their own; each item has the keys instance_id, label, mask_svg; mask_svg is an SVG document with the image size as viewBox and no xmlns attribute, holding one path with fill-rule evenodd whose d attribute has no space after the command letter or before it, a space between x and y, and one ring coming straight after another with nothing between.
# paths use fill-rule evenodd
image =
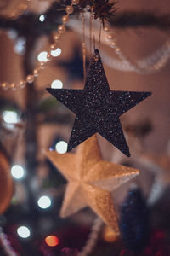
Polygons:
<instances>
[{"instance_id":1,"label":"gold five-pointed star ornament hanging behind the black star","mask_svg":"<svg viewBox=\"0 0 170 256\"><path fill-rule=\"evenodd\" d=\"M55 151L46 154L68 181L60 216L68 217L89 206L119 233L111 191L137 176L139 171L103 160L96 136L82 143L77 154Z\"/></svg>"}]
</instances>

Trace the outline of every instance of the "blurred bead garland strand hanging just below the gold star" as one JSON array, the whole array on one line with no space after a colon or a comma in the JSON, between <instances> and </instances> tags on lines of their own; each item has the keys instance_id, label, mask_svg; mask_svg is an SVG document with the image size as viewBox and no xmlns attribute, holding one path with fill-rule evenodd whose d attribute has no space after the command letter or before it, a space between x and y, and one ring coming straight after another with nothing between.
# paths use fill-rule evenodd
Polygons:
<instances>
[{"instance_id":1,"label":"blurred bead garland strand hanging just below the gold star","mask_svg":"<svg viewBox=\"0 0 170 256\"><path fill-rule=\"evenodd\" d=\"M87 256L89 253L92 252L98 240L99 231L101 230L102 224L103 224L103 221L100 218L96 218L94 220L94 225L88 237L88 241L86 245L82 248L82 252L80 252L78 256Z\"/></svg>"}]
</instances>

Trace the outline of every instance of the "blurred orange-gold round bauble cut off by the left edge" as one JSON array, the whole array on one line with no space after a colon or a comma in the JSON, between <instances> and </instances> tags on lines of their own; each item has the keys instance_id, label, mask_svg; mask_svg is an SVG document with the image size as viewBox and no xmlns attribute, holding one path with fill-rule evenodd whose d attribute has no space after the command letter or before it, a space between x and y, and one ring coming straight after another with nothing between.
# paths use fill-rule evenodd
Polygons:
<instances>
[{"instance_id":1,"label":"blurred orange-gold round bauble cut off by the left edge","mask_svg":"<svg viewBox=\"0 0 170 256\"><path fill-rule=\"evenodd\" d=\"M0 151L0 214L6 211L14 193L14 184L9 172L9 162Z\"/></svg>"}]
</instances>

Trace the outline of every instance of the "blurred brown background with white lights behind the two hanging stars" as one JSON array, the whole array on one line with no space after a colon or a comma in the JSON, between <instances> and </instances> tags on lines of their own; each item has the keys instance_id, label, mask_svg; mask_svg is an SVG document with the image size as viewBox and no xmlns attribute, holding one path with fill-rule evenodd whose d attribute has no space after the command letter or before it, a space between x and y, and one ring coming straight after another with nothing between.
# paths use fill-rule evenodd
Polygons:
<instances>
[{"instance_id":1,"label":"blurred brown background with white lights behind the two hanging stars","mask_svg":"<svg viewBox=\"0 0 170 256\"><path fill-rule=\"evenodd\" d=\"M47 61L65 4L70 2L0 1L1 84L18 84ZM103 225L89 255L170 255L169 13L167 0L117 1L110 32L128 63L119 50L111 48L107 34L101 33L100 52L111 90L151 91L152 96L121 117L130 159L98 135L105 160L139 168L141 173L113 194L122 236L116 237ZM88 14L85 21L88 68L92 56ZM98 37L98 21L94 23ZM0 90L2 256L77 255L96 218L89 208L71 218L59 218L66 181L44 154L48 148L66 152L74 123L74 114L45 89L83 88L79 15L71 15L52 55L34 83L20 90Z\"/></svg>"}]
</instances>

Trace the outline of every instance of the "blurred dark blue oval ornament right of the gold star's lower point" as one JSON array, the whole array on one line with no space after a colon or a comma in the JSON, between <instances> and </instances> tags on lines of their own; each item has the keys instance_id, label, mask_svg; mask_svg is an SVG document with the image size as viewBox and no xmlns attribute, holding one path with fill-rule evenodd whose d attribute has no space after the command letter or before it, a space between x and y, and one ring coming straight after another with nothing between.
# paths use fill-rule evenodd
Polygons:
<instances>
[{"instance_id":1,"label":"blurred dark blue oval ornament right of the gold star's lower point","mask_svg":"<svg viewBox=\"0 0 170 256\"><path fill-rule=\"evenodd\" d=\"M131 189L122 203L120 230L127 248L140 251L149 235L149 216L139 189Z\"/></svg>"}]
</instances>

